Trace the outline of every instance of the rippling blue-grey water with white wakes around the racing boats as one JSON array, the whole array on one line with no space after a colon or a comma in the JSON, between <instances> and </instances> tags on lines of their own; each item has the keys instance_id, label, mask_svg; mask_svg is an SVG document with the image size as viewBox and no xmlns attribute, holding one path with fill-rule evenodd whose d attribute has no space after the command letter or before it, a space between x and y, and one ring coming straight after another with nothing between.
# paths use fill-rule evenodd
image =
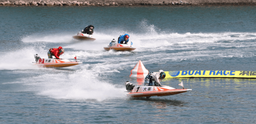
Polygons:
<instances>
[{"instance_id":1,"label":"rippling blue-grey water with white wakes around the racing boats","mask_svg":"<svg viewBox=\"0 0 256 124\"><path fill-rule=\"evenodd\" d=\"M192 91L128 98L123 83L141 60L149 71L255 71L254 6L0 7L0 123L252 124L256 79L165 79ZM93 42L72 39L94 25ZM104 51L128 33L136 50ZM32 65L62 46L83 62Z\"/></svg>"}]
</instances>

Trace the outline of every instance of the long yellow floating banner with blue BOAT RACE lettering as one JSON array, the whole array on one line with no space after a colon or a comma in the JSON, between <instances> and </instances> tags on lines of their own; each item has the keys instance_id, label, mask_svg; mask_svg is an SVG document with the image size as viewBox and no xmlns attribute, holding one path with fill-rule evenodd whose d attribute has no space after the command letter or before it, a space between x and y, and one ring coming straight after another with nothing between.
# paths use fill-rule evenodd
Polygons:
<instances>
[{"instance_id":1,"label":"long yellow floating banner with blue BOAT RACE lettering","mask_svg":"<svg viewBox=\"0 0 256 124\"><path fill-rule=\"evenodd\" d=\"M256 78L256 71L165 71L165 78Z\"/></svg>"}]
</instances>

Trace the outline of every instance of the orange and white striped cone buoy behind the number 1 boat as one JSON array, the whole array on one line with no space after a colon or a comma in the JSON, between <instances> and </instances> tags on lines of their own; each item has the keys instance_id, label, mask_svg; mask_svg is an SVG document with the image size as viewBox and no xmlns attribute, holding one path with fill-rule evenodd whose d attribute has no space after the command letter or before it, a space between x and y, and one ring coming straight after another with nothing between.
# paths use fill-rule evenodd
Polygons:
<instances>
[{"instance_id":1,"label":"orange and white striped cone buoy behind the number 1 boat","mask_svg":"<svg viewBox=\"0 0 256 124\"><path fill-rule=\"evenodd\" d=\"M131 71L131 78L145 78L148 75L148 70L145 68L143 63L139 61L134 69Z\"/></svg>"}]
</instances>

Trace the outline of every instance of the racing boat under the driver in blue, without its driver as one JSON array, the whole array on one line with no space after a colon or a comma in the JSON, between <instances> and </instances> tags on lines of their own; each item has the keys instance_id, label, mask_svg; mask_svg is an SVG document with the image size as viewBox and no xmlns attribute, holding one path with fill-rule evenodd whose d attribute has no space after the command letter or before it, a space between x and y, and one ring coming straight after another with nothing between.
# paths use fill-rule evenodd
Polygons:
<instances>
[{"instance_id":1,"label":"racing boat under the driver in blue, without its driver","mask_svg":"<svg viewBox=\"0 0 256 124\"><path fill-rule=\"evenodd\" d=\"M135 47L132 47L130 44L120 44L115 43L116 41L113 39L111 43L109 43L108 47L104 47L106 51L110 51L111 49L115 51L133 51L136 49Z\"/></svg>"}]
</instances>

